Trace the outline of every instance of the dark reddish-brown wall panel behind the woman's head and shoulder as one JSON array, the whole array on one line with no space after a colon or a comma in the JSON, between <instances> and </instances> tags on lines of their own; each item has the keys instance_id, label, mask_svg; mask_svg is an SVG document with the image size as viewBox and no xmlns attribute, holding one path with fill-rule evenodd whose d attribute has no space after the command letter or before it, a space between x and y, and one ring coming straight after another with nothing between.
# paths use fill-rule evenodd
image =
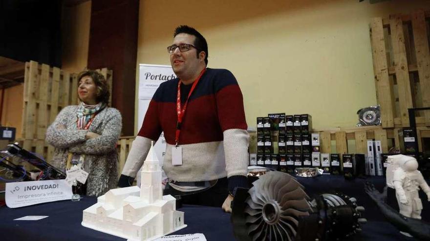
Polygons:
<instances>
[{"instance_id":1,"label":"dark reddish-brown wall panel behind the woman's head and shoulder","mask_svg":"<svg viewBox=\"0 0 430 241\"><path fill-rule=\"evenodd\" d=\"M123 116L122 135L134 135L139 0L92 0L88 68L113 70L112 106Z\"/></svg>"}]
</instances>

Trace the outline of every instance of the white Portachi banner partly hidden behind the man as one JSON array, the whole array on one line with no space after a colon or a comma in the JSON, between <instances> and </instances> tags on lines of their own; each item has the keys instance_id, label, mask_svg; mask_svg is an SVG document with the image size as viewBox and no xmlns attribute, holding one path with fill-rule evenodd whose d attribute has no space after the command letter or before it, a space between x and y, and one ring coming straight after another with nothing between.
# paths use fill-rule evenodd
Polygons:
<instances>
[{"instance_id":1,"label":"white Portachi banner partly hidden behind the man","mask_svg":"<svg viewBox=\"0 0 430 241\"><path fill-rule=\"evenodd\" d=\"M158 86L164 81L174 79L170 65L139 64L139 91L137 103L137 129L142 127L143 119L150 104L151 98ZM166 151L166 139L163 133L154 145L158 160L163 161L164 152Z\"/></svg>"}]
</instances>

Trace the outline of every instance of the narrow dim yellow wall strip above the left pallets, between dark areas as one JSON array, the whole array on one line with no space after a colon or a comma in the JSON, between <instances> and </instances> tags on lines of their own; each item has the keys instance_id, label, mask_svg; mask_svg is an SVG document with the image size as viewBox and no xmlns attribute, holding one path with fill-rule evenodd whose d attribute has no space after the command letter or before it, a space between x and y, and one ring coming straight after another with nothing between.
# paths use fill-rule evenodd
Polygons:
<instances>
[{"instance_id":1,"label":"narrow dim yellow wall strip above the left pallets, between dark areas","mask_svg":"<svg viewBox=\"0 0 430 241\"><path fill-rule=\"evenodd\" d=\"M87 66L90 19L91 1L63 9L62 69L69 73L79 73Z\"/></svg>"}]
</instances>

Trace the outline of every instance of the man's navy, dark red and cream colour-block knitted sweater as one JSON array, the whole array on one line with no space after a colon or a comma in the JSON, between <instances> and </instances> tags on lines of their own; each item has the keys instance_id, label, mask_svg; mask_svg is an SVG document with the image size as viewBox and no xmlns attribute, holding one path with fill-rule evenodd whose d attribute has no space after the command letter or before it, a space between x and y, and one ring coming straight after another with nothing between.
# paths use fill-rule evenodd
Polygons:
<instances>
[{"instance_id":1,"label":"man's navy, dark red and cream colour-block knitted sweater","mask_svg":"<svg viewBox=\"0 0 430 241\"><path fill-rule=\"evenodd\" d=\"M123 176L136 176L149 151L151 140L157 140L164 131L167 145L163 169L169 179L193 182L227 176L229 189L244 186L249 135L242 93L236 78L224 69L207 69L202 75L190 96L182 120L179 136L182 165L173 166L178 81L176 78L162 83L152 97L123 169ZM232 183L230 178L237 176L241 176L242 181Z\"/></svg>"}]
</instances>

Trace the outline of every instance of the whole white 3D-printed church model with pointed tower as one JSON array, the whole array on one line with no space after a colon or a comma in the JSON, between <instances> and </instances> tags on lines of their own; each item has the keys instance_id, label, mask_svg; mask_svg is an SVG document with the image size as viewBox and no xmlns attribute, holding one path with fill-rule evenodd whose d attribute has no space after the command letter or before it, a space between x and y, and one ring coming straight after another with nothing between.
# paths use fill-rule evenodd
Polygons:
<instances>
[{"instance_id":1,"label":"whole white 3D-printed church model with pointed tower","mask_svg":"<svg viewBox=\"0 0 430 241\"><path fill-rule=\"evenodd\" d=\"M141 188L109 190L83 211L82 225L128 241L154 240L186 227L175 198L162 194L161 167L153 146L141 174Z\"/></svg>"}]
</instances>

